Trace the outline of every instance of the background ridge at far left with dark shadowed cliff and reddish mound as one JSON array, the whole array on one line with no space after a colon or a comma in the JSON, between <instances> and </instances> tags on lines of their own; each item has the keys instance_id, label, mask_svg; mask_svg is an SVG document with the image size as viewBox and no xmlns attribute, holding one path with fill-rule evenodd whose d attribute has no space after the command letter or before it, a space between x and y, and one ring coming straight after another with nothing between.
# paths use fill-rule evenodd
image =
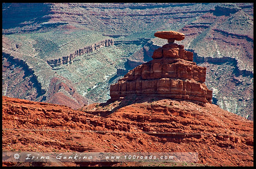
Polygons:
<instances>
[{"instance_id":1,"label":"background ridge at far left with dark shadowed cliff and reddish mound","mask_svg":"<svg viewBox=\"0 0 256 169\"><path fill-rule=\"evenodd\" d=\"M51 69L46 62L9 51L3 48L3 95L71 105L72 108L88 104L89 99L77 93L70 80L48 71Z\"/></svg>"}]
</instances>

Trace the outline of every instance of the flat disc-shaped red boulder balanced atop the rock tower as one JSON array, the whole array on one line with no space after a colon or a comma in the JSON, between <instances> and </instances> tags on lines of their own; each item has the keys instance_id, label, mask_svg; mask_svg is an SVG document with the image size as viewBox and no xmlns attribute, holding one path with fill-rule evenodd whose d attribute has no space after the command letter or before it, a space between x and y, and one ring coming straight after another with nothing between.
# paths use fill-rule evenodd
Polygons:
<instances>
[{"instance_id":1,"label":"flat disc-shaped red boulder balanced atop the rock tower","mask_svg":"<svg viewBox=\"0 0 256 169\"><path fill-rule=\"evenodd\" d=\"M185 35L175 31L158 31L154 34L155 37L167 39L168 43L174 43L175 40L181 41L185 39Z\"/></svg>"}]
</instances>

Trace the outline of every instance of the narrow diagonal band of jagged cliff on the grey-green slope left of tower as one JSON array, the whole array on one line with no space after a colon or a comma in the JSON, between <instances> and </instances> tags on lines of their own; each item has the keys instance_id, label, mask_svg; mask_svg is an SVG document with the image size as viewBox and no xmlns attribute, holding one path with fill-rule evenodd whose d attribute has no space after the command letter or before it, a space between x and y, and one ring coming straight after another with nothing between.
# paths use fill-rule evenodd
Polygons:
<instances>
[{"instance_id":1,"label":"narrow diagonal band of jagged cliff on the grey-green slope left of tower","mask_svg":"<svg viewBox=\"0 0 256 169\"><path fill-rule=\"evenodd\" d=\"M111 45L114 45L114 40L113 39L106 39L106 40L100 41L98 43L95 43L94 45L86 46L83 49L76 50L74 53L71 53L70 55L68 55L66 57L62 57L62 58L59 58L59 59L48 60L47 63L52 68L54 68L56 66L60 66L62 64L68 64L68 63L72 64L73 60L79 55L83 55L83 54L86 54L86 53L91 53L94 50L97 50L101 47L108 47L108 46L111 46Z\"/></svg>"}]
</instances>

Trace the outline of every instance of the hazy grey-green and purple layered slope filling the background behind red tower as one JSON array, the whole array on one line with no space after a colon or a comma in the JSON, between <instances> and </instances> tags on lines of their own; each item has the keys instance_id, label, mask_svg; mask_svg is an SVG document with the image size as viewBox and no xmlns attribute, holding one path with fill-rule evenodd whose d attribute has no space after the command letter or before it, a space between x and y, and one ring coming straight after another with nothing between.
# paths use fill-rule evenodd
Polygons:
<instances>
[{"instance_id":1,"label":"hazy grey-green and purple layered slope filling the background behind red tower","mask_svg":"<svg viewBox=\"0 0 256 169\"><path fill-rule=\"evenodd\" d=\"M110 98L111 84L150 61L153 51L165 44L154 33L174 30L185 34L182 44L194 52L194 62L207 67L205 84L213 91L214 103L253 120L252 3L3 3L2 11L3 46L8 48L2 64L4 69L15 64L20 69L14 71L16 81L5 72L2 85L6 96L65 103L50 99L53 93L48 92L51 81L56 81L53 78L58 78L63 83L68 80L66 85L86 100L59 90L69 103L76 104L73 108L88 101L104 102ZM58 59L105 39L117 43L60 65ZM15 62L11 64L9 58ZM53 68L47 61L52 61ZM23 76L27 67L32 80ZM17 81L23 85L11 87Z\"/></svg>"}]
</instances>

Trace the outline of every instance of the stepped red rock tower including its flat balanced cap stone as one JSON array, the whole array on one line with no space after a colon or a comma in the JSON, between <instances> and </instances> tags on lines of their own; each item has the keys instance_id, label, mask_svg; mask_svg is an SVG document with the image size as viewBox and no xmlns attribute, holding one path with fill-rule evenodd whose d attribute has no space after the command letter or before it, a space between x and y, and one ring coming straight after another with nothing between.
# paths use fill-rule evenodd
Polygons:
<instances>
[{"instance_id":1,"label":"stepped red rock tower including its flat balanced cap stone","mask_svg":"<svg viewBox=\"0 0 256 169\"><path fill-rule=\"evenodd\" d=\"M185 35L175 31L156 32L168 43L156 49L153 60L130 70L111 85L112 100L129 95L145 95L187 100L199 105L211 103L212 91L205 85L206 68L193 62L193 53L174 43Z\"/></svg>"}]
</instances>

